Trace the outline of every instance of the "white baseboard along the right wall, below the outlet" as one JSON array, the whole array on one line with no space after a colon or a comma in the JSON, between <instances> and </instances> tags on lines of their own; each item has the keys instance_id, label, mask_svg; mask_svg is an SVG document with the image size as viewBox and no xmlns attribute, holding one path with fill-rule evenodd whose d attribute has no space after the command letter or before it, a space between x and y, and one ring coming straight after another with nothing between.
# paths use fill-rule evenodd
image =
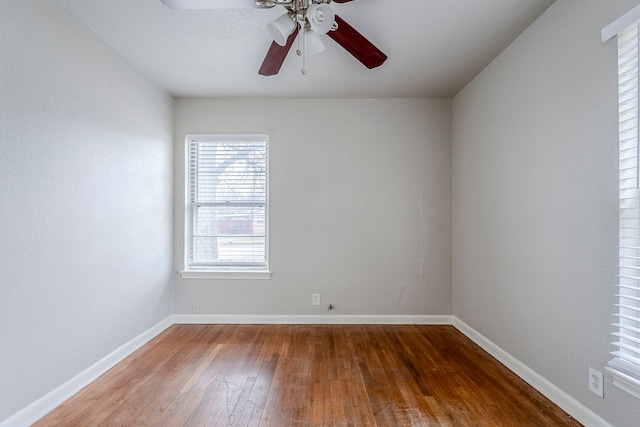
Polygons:
<instances>
[{"instance_id":1,"label":"white baseboard along the right wall, below the outlet","mask_svg":"<svg viewBox=\"0 0 640 427\"><path fill-rule=\"evenodd\" d=\"M582 403L455 316L453 317L453 326L583 425L613 427Z\"/></svg>"}]
</instances>

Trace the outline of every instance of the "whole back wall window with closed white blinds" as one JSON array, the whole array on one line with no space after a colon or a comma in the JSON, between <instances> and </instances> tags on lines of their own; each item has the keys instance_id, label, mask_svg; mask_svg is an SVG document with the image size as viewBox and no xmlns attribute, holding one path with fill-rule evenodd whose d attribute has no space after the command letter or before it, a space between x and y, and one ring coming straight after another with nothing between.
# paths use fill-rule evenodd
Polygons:
<instances>
[{"instance_id":1,"label":"whole back wall window with closed white blinds","mask_svg":"<svg viewBox=\"0 0 640 427\"><path fill-rule=\"evenodd\" d=\"M188 135L186 146L182 277L268 278L268 136Z\"/></svg>"}]
</instances>

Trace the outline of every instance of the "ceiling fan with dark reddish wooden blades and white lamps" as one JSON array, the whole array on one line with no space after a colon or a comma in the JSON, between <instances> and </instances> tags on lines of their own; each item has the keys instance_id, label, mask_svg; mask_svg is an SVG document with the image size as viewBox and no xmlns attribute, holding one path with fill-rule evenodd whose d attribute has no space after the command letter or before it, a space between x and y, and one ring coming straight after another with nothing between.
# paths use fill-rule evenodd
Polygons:
<instances>
[{"instance_id":1,"label":"ceiling fan with dark reddish wooden blades and white lamps","mask_svg":"<svg viewBox=\"0 0 640 427\"><path fill-rule=\"evenodd\" d=\"M324 50L320 34L326 34L347 52L353 55L365 67L379 67L387 60L380 49L367 40L344 19L336 15L329 3L332 0L161 0L171 9L236 9L236 8L272 8L284 6L286 13L267 24L267 31L273 42L267 51L258 74L273 76L278 74L293 42L302 33L302 51L298 55L317 53ZM348 3L352 0L333 0L335 3ZM304 65L302 73L306 74Z\"/></svg>"}]
</instances>

